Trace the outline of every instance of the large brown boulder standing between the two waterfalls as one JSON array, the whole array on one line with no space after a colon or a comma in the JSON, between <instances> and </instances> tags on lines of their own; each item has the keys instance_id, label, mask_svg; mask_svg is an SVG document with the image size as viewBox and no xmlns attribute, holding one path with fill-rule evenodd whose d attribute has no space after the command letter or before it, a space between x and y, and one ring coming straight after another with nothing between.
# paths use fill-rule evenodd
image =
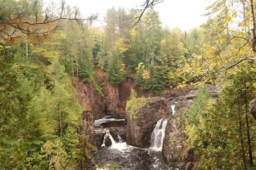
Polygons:
<instances>
[{"instance_id":1,"label":"large brown boulder standing between the two waterfalls","mask_svg":"<svg viewBox=\"0 0 256 170\"><path fill-rule=\"evenodd\" d=\"M137 119L131 119L126 113L126 142L132 146L149 147L151 133L157 121L172 114L169 100L163 97L147 98L145 105L137 113Z\"/></svg>"}]
</instances>

